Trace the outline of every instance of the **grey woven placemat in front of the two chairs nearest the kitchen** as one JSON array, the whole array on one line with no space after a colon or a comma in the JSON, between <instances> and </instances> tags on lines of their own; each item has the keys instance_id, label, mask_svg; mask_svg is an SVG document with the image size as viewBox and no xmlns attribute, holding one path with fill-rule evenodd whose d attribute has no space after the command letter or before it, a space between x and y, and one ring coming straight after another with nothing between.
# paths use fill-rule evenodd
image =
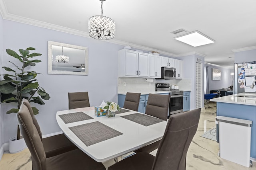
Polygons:
<instances>
[{"instance_id":1,"label":"grey woven placemat in front of the two chairs nearest the kitchen","mask_svg":"<svg viewBox=\"0 0 256 170\"><path fill-rule=\"evenodd\" d=\"M152 116L141 114L141 113L134 113L130 115L124 115L121 117L123 117L124 119L128 119L130 121L134 121L144 126L149 126L149 125L153 125L153 124L164 121L162 119L158 119L156 117L152 117Z\"/></svg>"}]
</instances>

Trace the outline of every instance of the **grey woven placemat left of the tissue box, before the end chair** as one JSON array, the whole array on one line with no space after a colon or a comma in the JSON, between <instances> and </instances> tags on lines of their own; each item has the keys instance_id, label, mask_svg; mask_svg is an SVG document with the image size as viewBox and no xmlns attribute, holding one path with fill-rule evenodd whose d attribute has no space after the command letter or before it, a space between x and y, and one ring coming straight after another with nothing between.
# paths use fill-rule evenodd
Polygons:
<instances>
[{"instance_id":1,"label":"grey woven placemat left of the tissue box, before the end chair","mask_svg":"<svg viewBox=\"0 0 256 170\"><path fill-rule=\"evenodd\" d=\"M93 119L89 115L86 115L84 112L75 112L75 113L68 113L64 115L59 115L60 118L64 121L64 123L73 123L77 121L89 120Z\"/></svg>"}]
</instances>

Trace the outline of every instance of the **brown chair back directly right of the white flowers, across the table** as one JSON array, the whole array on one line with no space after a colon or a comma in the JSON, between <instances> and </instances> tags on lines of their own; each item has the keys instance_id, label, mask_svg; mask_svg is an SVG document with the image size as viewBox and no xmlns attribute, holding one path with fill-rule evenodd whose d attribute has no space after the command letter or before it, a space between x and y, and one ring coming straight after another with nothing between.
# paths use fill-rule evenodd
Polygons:
<instances>
[{"instance_id":1,"label":"brown chair back directly right of the white flowers, across the table","mask_svg":"<svg viewBox=\"0 0 256 170\"><path fill-rule=\"evenodd\" d=\"M130 92L126 93L123 108L138 111L139 104L140 104L140 93L130 93Z\"/></svg>"}]
</instances>

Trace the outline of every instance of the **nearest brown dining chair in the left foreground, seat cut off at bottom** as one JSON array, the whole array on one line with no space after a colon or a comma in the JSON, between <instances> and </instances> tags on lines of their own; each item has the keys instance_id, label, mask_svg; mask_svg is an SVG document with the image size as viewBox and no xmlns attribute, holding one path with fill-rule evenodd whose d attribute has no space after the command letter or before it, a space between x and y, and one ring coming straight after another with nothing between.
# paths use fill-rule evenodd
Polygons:
<instances>
[{"instance_id":1,"label":"nearest brown dining chair in the left foreground, seat cut off at bottom","mask_svg":"<svg viewBox=\"0 0 256 170\"><path fill-rule=\"evenodd\" d=\"M20 106L17 113L18 125L32 156L33 170L106 170L102 163L96 162L80 149L71 150L46 158L44 145L28 107Z\"/></svg>"}]
</instances>

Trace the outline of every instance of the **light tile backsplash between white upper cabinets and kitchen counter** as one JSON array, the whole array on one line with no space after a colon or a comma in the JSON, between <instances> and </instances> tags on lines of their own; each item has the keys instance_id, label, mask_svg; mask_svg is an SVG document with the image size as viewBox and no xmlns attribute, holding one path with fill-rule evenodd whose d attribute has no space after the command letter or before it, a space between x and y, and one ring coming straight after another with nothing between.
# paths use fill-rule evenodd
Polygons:
<instances>
[{"instance_id":1,"label":"light tile backsplash between white upper cabinets and kitchen counter","mask_svg":"<svg viewBox=\"0 0 256 170\"><path fill-rule=\"evenodd\" d=\"M155 91L156 83L170 83L170 85L179 86L180 90L191 91L191 79L186 78L175 80L153 79L153 82L146 82L146 78L118 77L118 92L152 92Z\"/></svg>"}]
</instances>

